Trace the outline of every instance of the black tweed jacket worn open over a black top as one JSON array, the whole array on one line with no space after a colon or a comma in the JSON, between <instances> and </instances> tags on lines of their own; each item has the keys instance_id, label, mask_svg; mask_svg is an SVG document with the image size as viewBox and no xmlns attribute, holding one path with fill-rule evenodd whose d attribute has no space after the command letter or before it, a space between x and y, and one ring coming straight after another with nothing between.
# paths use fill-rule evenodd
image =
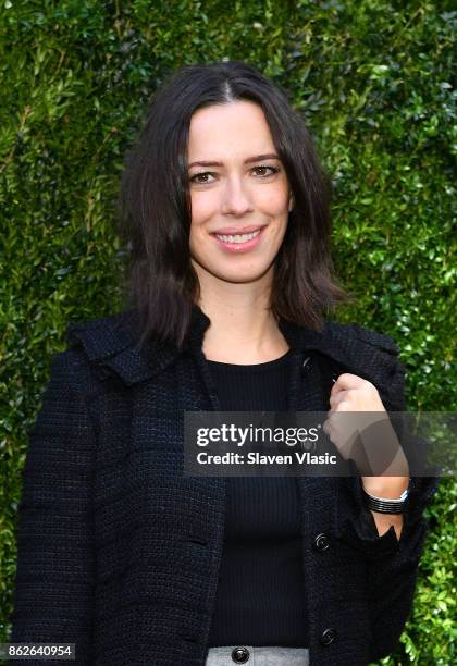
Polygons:
<instances>
[{"instance_id":1,"label":"black tweed jacket worn open over a black top","mask_svg":"<svg viewBox=\"0 0 457 666\"><path fill-rule=\"evenodd\" d=\"M184 410L219 409L201 349L209 324L196 307L181 351L140 350L134 310L70 326L29 433L12 642L76 643L77 666L203 666L225 479L184 478L182 465ZM386 409L406 408L390 337L280 328L293 349L291 410L328 410L346 371L371 381ZM357 478L298 483L310 664L366 666L394 650L410 613L437 480L411 480L399 541L393 527L378 535Z\"/></svg>"}]
</instances>

